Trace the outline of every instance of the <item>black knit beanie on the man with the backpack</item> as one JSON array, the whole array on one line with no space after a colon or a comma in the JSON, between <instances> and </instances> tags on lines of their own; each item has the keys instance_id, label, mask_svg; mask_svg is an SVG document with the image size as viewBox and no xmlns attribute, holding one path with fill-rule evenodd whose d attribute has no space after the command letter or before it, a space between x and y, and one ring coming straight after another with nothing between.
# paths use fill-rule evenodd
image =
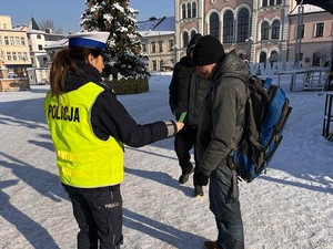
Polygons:
<instances>
[{"instance_id":1,"label":"black knit beanie on the man with the backpack","mask_svg":"<svg viewBox=\"0 0 333 249\"><path fill-rule=\"evenodd\" d=\"M220 62L225 56L221 42L212 37L202 37L193 51L194 65L209 65Z\"/></svg>"}]
</instances>

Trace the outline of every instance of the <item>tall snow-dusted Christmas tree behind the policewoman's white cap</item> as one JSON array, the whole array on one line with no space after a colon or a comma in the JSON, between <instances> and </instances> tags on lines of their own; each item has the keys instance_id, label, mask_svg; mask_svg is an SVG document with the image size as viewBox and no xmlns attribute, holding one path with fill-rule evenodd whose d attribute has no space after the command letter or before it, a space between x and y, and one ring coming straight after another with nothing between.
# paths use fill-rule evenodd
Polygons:
<instances>
[{"instance_id":1,"label":"tall snow-dusted Christmas tree behind the policewoman's white cap","mask_svg":"<svg viewBox=\"0 0 333 249\"><path fill-rule=\"evenodd\" d=\"M125 77L147 76L147 64L141 53L141 34L135 15L129 7L130 0L85 0L80 25L88 31L108 31L107 53L111 61L105 63L104 76L118 74Z\"/></svg>"}]
</instances>

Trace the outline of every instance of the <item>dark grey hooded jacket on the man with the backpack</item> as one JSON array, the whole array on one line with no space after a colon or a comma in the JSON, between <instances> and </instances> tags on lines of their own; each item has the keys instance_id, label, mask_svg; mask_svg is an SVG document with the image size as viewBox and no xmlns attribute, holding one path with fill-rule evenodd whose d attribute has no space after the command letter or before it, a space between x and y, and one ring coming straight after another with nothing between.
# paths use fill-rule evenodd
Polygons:
<instances>
[{"instance_id":1,"label":"dark grey hooded jacket on the man with the backpack","mask_svg":"<svg viewBox=\"0 0 333 249\"><path fill-rule=\"evenodd\" d=\"M232 51L218 65L212 84L203 102L202 118L196 138L200 172L209 176L216 167L226 166L228 154L239 144L245 114L248 87L239 77L223 77L238 73L245 79L250 71Z\"/></svg>"}]
</instances>

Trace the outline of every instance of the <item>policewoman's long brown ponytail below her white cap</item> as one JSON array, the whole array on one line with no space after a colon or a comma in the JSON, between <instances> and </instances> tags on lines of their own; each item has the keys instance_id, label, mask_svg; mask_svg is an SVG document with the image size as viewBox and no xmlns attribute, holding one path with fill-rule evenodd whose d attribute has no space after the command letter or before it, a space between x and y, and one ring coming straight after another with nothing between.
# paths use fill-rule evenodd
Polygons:
<instances>
[{"instance_id":1,"label":"policewoman's long brown ponytail below her white cap","mask_svg":"<svg viewBox=\"0 0 333 249\"><path fill-rule=\"evenodd\" d=\"M61 50L56 54L50 70L52 95L59 97L64 92L65 76L78 71L75 61L87 62L89 54L98 58L101 55L101 51L89 48L70 48Z\"/></svg>"}]
</instances>

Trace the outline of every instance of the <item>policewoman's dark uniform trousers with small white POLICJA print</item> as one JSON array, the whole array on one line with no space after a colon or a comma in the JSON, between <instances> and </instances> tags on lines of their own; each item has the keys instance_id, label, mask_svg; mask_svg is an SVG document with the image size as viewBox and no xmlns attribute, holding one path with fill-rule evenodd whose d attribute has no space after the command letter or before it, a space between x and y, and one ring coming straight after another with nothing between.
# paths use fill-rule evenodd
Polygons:
<instances>
[{"instance_id":1,"label":"policewoman's dark uniform trousers with small white POLICJA print","mask_svg":"<svg viewBox=\"0 0 333 249\"><path fill-rule=\"evenodd\" d=\"M78 249L119 249L123 241L120 186L64 188L80 228Z\"/></svg>"}]
</instances>

